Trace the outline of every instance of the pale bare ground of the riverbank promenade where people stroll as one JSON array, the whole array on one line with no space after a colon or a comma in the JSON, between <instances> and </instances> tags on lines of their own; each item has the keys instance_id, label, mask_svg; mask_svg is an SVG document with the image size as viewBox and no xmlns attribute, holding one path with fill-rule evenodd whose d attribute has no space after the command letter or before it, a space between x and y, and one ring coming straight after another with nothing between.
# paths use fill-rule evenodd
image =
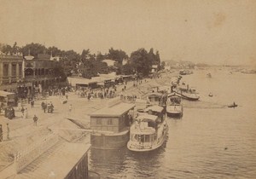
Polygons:
<instances>
[{"instance_id":1,"label":"pale bare ground of the riverbank promenade where people stroll","mask_svg":"<svg viewBox=\"0 0 256 179\"><path fill-rule=\"evenodd\" d=\"M138 98L143 98L149 91L163 84L161 79L162 78L145 78L141 83L137 83L137 85L134 85L132 81L127 84L117 85L116 94L137 95ZM126 86L125 90L123 90L124 85ZM15 153L20 149L24 149L43 136L49 135L51 128L79 128L77 124L67 120L67 118L77 121L85 128L90 128L90 117L88 114L105 107L108 101L110 101L108 98L93 98L89 101L87 98L79 97L76 92L69 92L67 95L68 99L66 103L62 102L66 100L65 97L51 95L47 99L35 101L34 107L25 104L24 107L27 108L27 118L22 117L22 113L19 111L18 107L15 107L15 118L11 120L3 118L2 114L0 124L3 125L3 141L0 143L0 170L14 161ZM41 107L43 101L46 103L50 102L54 105L54 113L44 113ZM72 105L71 110L70 105ZM34 115L38 117L37 126L34 125L32 119ZM9 124L9 132L6 128L6 124ZM61 137L64 137L67 141L78 141L81 136L84 136L83 131L70 132L64 130L61 132ZM86 136L85 138L85 141L90 142L90 137Z\"/></svg>"}]
</instances>

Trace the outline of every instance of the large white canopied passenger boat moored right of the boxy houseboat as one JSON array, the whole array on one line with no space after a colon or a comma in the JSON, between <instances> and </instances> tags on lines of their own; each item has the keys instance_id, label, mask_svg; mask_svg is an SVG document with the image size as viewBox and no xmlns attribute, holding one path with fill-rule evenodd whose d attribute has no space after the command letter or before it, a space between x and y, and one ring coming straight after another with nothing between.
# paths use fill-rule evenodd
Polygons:
<instances>
[{"instance_id":1,"label":"large white canopied passenger boat moored right of the boxy houseboat","mask_svg":"<svg viewBox=\"0 0 256 179\"><path fill-rule=\"evenodd\" d=\"M147 152L160 147L166 141L168 124L166 123L164 107L145 110L148 113L139 113L135 122L131 124L129 150L134 152ZM161 110L159 110L161 108ZM160 113L159 113L160 111ZM156 114L156 115L153 115Z\"/></svg>"}]
</instances>

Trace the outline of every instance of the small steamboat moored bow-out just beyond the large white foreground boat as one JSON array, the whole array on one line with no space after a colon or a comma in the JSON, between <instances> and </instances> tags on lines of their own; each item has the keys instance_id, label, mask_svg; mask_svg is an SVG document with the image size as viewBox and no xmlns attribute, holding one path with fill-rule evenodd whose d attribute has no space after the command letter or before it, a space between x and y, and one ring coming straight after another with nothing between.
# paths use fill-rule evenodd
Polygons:
<instances>
[{"instance_id":1,"label":"small steamboat moored bow-out just beyond the large white foreground boat","mask_svg":"<svg viewBox=\"0 0 256 179\"><path fill-rule=\"evenodd\" d=\"M183 105L181 104L181 98L175 93L168 95L166 114L168 117L174 118L180 118L183 116Z\"/></svg>"}]
</instances>

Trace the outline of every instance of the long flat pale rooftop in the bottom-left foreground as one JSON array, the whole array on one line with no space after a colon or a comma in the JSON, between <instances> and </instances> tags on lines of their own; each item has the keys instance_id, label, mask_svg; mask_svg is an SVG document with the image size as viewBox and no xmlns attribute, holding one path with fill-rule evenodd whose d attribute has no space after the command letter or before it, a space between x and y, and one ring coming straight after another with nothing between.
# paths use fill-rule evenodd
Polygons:
<instances>
[{"instance_id":1,"label":"long flat pale rooftop in the bottom-left foreground","mask_svg":"<svg viewBox=\"0 0 256 179\"><path fill-rule=\"evenodd\" d=\"M21 170L15 179L65 178L89 149L90 144L58 142Z\"/></svg>"}]
</instances>

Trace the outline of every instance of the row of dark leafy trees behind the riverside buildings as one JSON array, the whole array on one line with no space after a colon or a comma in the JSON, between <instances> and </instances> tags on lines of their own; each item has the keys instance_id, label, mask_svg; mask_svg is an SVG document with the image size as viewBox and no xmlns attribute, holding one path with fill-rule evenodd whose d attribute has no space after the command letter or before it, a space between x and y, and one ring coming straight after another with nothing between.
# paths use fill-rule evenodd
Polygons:
<instances>
[{"instance_id":1,"label":"row of dark leafy trees behind the riverside buildings","mask_svg":"<svg viewBox=\"0 0 256 179\"><path fill-rule=\"evenodd\" d=\"M139 73L143 76L147 76L152 69L152 66L158 66L160 69L160 54L158 51L154 53L154 49L137 49L131 53L130 57L121 49L109 49L108 54L102 55L101 52L97 54L91 54L90 49L84 49L81 55L71 50L61 50L56 47L46 48L39 43L29 43L23 47L17 46L15 43L13 46L9 44L0 43L0 50L6 55L15 55L22 53L22 55L32 55L37 58L38 54L49 54L52 56L59 56L59 70L64 72L66 76L70 76L73 73L80 73L84 78L91 78L97 76L98 73L117 72L117 74L135 74ZM103 62L105 59L110 59L115 62L114 66L108 66ZM128 60L129 59L129 60ZM127 62L123 64L122 62Z\"/></svg>"}]
</instances>

